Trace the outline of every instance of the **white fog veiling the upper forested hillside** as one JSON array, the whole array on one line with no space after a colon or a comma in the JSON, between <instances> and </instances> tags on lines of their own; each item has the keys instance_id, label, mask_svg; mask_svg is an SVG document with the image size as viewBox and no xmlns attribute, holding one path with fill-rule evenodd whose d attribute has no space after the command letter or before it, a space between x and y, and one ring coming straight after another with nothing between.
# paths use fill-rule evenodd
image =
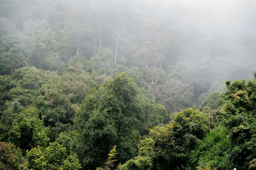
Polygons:
<instances>
[{"instance_id":1,"label":"white fog veiling the upper forested hillside","mask_svg":"<svg viewBox=\"0 0 256 170\"><path fill-rule=\"evenodd\" d=\"M167 102L163 91L179 86L184 106L187 99L200 104L210 91L223 90L225 80L253 77L255 5L239 0L1 0L1 45L6 48L0 71L13 74L33 66L62 73L72 67L105 77L126 71L159 103ZM5 43L9 38L14 44ZM18 51L9 51L15 44Z\"/></svg>"}]
</instances>

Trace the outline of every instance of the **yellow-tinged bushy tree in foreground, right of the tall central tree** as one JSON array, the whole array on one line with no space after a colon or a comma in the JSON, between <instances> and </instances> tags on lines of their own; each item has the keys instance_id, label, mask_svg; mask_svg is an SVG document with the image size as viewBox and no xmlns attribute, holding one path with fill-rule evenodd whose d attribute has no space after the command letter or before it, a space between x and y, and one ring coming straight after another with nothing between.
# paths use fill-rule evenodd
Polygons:
<instances>
[{"instance_id":1,"label":"yellow-tinged bushy tree in foreground, right of the tall central tree","mask_svg":"<svg viewBox=\"0 0 256 170\"><path fill-rule=\"evenodd\" d=\"M189 166L190 152L207 135L207 115L186 109L166 126L156 126L138 144L139 156L124 169L180 169Z\"/></svg>"}]
</instances>

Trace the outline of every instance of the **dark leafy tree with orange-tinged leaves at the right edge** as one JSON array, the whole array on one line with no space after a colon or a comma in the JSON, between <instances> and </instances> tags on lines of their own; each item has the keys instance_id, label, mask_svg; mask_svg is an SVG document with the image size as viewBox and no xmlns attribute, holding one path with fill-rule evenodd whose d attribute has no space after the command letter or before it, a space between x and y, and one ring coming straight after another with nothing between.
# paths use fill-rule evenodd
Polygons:
<instances>
[{"instance_id":1,"label":"dark leafy tree with orange-tinged leaves at the right edge","mask_svg":"<svg viewBox=\"0 0 256 170\"><path fill-rule=\"evenodd\" d=\"M226 82L227 90L222 94L225 118L224 126L231 138L229 167L248 169L249 161L255 158L255 90L253 80Z\"/></svg>"}]
</instances>

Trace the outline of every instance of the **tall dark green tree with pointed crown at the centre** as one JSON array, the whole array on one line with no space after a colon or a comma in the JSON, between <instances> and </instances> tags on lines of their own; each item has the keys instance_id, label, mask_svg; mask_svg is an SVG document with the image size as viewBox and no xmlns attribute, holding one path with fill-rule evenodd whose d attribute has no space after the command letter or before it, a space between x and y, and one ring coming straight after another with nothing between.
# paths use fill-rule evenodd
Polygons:
<instances>
[{"instance_id":1,"label":"tall dark green tree with pointed crown at the centre","mask_svg":"<svg viewBox=\"0 0 256 170\"><path fill-rule=\"evenodd\" d=\"M82 155L87 153L84 155L86 159L83 158L87 166L94 162L98 165L103 163L106 159L106 151L117 143L119 143L117 148L120 147L118 154L120 153L121 160L127 159L130 154L135 154L138 141L138 134L132 127L135 95L134 82L126 74L120 73L114 80L106 82L83 101L75 125L82 132L78 135L80 152L78 154L83 158ZM98 148L99 144L102 147ZM84 149L86 152L81 152ZM91 159L93 157L97 161Z\"/></svg>"}]
</instances>

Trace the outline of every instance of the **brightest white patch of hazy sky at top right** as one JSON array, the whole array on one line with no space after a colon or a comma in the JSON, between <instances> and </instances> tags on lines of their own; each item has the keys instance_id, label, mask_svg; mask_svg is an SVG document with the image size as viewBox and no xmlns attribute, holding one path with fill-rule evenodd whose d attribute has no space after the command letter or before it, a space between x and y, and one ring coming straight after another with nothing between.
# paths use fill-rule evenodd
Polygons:
<instances>
[{"instance_id":1,"label":"brightest white patch of hazy sky at top right","mask_svg":"<svg viewBox=\"0 0 256 170\"><path fill-rule=\"evenodd\" d=\"M158 10L175 10L217 27L229 27L242 13L256 5L256 0L143 0Z\"/></svg>"}]
</instances>

